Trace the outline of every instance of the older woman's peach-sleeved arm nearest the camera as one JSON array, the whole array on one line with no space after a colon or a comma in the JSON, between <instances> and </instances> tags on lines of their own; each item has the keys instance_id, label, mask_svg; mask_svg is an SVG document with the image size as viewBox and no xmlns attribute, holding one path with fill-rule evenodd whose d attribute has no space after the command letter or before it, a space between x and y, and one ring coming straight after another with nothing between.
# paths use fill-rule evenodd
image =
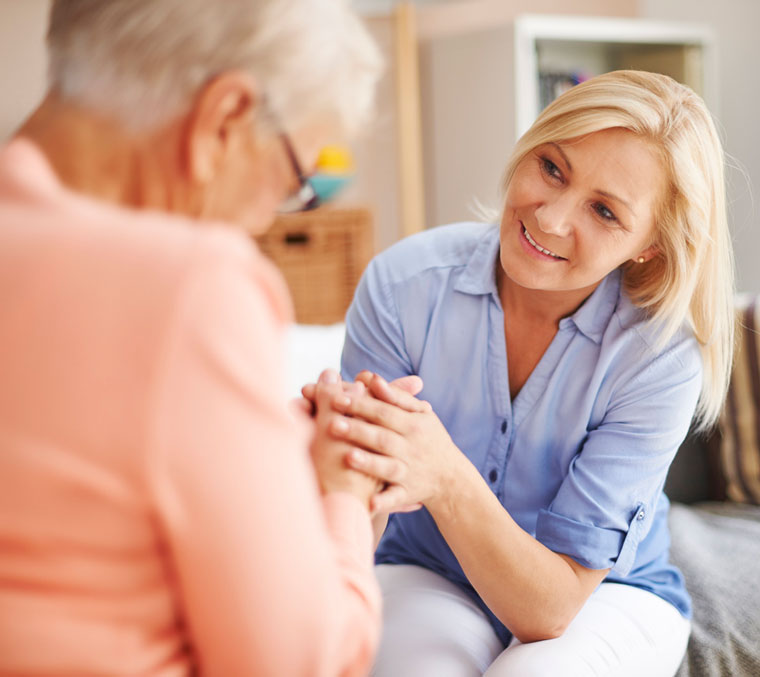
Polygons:
<instances>
[{"instance_id":1,"label":"older woman's peach-sleeved arm nearest the camera","mask_svg":"<svg viewBox=\"0 0 760 677\"><path fill-rule=\"evenodd\" d=\"M360 675L379 632L368 513L319 495L263 267L225 258L185 288L156 395L157 518L202 674Z\"/></svg>"}]
</instances>

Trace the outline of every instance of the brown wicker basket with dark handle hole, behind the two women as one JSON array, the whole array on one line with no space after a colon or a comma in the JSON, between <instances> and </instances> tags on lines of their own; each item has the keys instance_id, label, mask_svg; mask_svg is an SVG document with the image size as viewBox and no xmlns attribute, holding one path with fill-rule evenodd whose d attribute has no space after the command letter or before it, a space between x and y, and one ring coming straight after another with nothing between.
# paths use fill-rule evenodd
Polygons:
<instances>
[{"instance_id":1,"label":"brown wicker basket with dark handle hole, behind the two women","mask_svg":"<svg viewBox=\"0 0 760 677\"><path fill-rule=\"evenodd\" d=\"M257 242L285 276L297 322L342 322L372 257L372 216L326 207L283 214Z\"/></svg>"}]
</instances>

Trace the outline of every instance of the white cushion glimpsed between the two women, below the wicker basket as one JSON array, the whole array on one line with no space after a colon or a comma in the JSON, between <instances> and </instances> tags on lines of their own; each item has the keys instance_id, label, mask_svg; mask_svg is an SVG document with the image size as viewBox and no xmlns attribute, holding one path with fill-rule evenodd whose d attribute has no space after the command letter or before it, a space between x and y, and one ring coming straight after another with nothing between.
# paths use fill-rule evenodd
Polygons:
<instances>
[{"instance_id":1,"label":"white cushion glimpsed between the two women, below the wicker basket","mask_svg":"<svg viewBox=\"0 0 760 677\"><path fill-rule=\"evenodd\" d=\"M346 325L294 324L285 346L287 395L299 397L301 386L314 383L323 369L340 371Z\"/></svg>"}]
</instances>

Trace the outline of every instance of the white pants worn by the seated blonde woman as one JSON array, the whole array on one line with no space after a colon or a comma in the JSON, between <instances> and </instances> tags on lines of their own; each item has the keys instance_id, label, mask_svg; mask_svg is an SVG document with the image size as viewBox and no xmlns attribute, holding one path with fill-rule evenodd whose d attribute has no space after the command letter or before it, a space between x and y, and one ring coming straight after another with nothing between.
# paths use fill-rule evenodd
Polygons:
<instances>
[{"instance_id":1,"label":"white pants worn by the seated blonde woman","mask_svg":"<svg viewBox=\"0 0 760 677\"><path fill-rule=\"evenodd\" d=\"M602 583L557 639L505 649L487 616L422 567L381 564L374 677L673 677L691 624L657 595Z\"/></svg>"}]
</instances>

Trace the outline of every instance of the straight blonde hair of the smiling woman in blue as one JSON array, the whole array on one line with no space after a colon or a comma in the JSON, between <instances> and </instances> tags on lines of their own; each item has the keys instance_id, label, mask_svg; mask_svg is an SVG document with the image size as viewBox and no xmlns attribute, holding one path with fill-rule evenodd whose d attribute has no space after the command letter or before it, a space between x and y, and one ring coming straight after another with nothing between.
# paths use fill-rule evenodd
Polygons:
<instances>
[{"instance_id":1,"label":"straight blonde hair of the smiling woman in blue","mask_svg":"<svg viewBox=\"0 0 760 677\"><path fill-rule=\"evenodd\" d=\"M665 75L615 71L573 87L550 104L520 138L504 187L536 147L613 127L649 141L666 173L655 215L659 254L623 266L625 289L647 311L664 346L691 327L704 364L696 427L718 418L734 347L734 263L726 216L724 155L712 117L691 89Z\"/></svg>"}]
</instances>

